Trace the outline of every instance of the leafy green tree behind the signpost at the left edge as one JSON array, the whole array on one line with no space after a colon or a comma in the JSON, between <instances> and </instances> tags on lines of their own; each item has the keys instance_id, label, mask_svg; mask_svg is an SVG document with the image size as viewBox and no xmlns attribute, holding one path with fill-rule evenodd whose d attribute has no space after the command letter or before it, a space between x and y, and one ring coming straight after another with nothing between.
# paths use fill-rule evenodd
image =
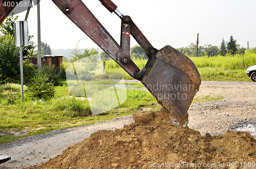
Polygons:
<instances>
[{"instance_id":1,"label":"leafy green tree behind the signpost at the left edge","mask_svg":"<svg viewBox=\"0 0 256 169\"><path fill-rule=\"evenodd\" d=\"M9 82L20 81L20 65L19 65L19 47L15 44L15 29L14 23L18 16L14 17L13 13L7 17L5 22L0 25L0 74L3 74L3 79L8 79ZM29 36L32 38L33 36ZM29 42L29 46L23 47L24 56L32 56L34 53L34 43ZM24 80L28 81L27 75L32 75L33 70L29 62L24 62Z\"/></svg>"}]
</instances>

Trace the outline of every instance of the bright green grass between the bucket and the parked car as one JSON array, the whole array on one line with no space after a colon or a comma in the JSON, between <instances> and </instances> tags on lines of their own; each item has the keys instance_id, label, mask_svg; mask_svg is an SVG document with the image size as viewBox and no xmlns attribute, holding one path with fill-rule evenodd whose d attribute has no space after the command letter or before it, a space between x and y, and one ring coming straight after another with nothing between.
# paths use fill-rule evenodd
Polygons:
<instances>
[{"instance_id":1,"label":"bright green grass between the bucket and the parked car","mask_svg":"<svg viewBox=\"0 0 256 169\"><path fill-rule=\"evenodd\" d=\"M246 50L244 54L227 54L225 57L189 57L197 66L202 80L251 81L246 69L256 65L256 53Z\"/></svg>"}]
</instances>

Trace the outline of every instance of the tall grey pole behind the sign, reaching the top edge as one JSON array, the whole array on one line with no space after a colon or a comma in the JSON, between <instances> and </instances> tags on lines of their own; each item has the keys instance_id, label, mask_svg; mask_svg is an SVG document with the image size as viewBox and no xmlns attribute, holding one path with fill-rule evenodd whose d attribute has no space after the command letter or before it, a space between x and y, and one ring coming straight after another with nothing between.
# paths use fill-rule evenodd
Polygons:
<instances>
[{"instance_id":1,"label":"tall grey pole behind the sign, reaching the top edge","mask_svg":"<svg viewBox=\"0 0 256 169\"><path fill-rule=\"evenodd\" d=\"M40 5L37 0L37 69L41 70L41 27L40 27Z\"/></svg>"}]
</instances>

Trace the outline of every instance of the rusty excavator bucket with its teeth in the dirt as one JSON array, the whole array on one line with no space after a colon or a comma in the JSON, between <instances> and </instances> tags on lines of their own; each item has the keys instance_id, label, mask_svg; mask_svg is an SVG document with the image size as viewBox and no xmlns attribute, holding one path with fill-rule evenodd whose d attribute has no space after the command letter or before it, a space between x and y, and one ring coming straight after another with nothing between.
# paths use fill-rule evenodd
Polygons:
<instances>
[{"instance_id":1,"label":"rusty excavator bucket with its teeth in the dirt","mask_svg":"<svg viewBox=\"0 0 256 169\"><path fill-rule=\"evenodd\" d=\"M141 81L162 108L170 112L169 119L185 127L187 110L201 84L195 64L178 50L165 46L145 68Z\"/></svg>"}]
</instances>

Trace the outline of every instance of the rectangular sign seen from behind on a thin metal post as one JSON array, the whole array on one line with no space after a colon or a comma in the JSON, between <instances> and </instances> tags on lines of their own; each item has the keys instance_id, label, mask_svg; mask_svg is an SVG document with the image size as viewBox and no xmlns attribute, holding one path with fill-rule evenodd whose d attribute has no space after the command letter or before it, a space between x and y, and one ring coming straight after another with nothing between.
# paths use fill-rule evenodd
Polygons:
<instances>
[{"instance_id":1,"label":"rectangular sign seen from behind on a thin metal post","mask_svg":"<svg viewBox=\"0 0 256 169\"><path fill-rule=\"evenodd\" d=\"M29 45L28 21L15 22L15 43L20 51L20 82L22 85L22 101L24 99L24 80L23 80L23 54L22 47Z\"/></svg>"}]
</instances>

